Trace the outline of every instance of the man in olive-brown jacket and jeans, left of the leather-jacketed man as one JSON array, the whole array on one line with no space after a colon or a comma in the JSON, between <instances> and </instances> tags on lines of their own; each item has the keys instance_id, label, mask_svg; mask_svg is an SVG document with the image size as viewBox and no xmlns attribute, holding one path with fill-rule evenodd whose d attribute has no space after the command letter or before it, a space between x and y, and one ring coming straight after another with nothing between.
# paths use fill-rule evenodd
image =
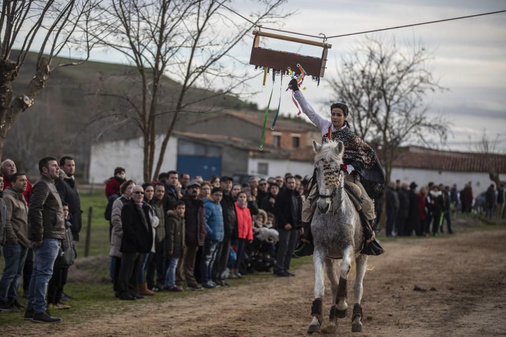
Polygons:
<instances>
[{"instance_id":1,"label":"man in olive-brown jacket and jeans, left of the leather-jacketed man","mask_svg":"<svg viewBox=\"0 0 506 337\"><path fill-rule=\"evenodd\" d=\"M6 205L6 238L4 244L5 268L0 279L0 311L23 308L19 304L18 279L23 271L26 253L30 247L28 240L28 207L23 198L27 182L24 173L10 176L11 187L4 191Z\"/></svg>"}]
</instances>

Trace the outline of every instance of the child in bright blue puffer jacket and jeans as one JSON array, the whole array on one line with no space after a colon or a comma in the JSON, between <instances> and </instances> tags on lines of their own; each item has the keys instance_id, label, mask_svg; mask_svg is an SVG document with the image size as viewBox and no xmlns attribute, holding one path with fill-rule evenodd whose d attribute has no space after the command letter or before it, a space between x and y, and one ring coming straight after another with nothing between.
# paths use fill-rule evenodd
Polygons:
<instances>
[{"instance_id":1,"label":"child in bright blue puffer jacket and jeans","mask_svg":"<svg viewBox=\"0 0 506 337\"><path fill-rule=\"evenodd\" d=\"M211 278L213 265L216 260L218 245L223 241L223 208L220 202L223 198L221 188L214 187L211 195L204 201L205 210L205 236L204 247L202 248L202 259L200 261L200 277L204 288L215 288L217 284Z\"/></svg>"}]
</instances>

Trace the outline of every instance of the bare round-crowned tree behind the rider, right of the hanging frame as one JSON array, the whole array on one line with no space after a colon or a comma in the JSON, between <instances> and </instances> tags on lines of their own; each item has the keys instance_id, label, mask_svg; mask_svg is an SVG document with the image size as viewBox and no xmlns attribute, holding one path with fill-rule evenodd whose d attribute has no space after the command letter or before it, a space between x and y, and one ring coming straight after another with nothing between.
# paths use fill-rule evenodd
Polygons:
<instances>
[{"instance_id":1,"label":"bare round-crowned tree behind the rider, right of the hanging frame","mask_svg":"<svg viewBox=\"0 0 506 337\"><path fill-rule=\"evenodd\" d=\"M446 139L447 123L428 114L427 94L444 90L433 78L430 60L421 43L402 51L395 38L366 37L343 59L339 77L330 80L336 97L350 107L352 127L377 146L387 181L402 143L434 134Z\"/></svg>"}]
</instances>

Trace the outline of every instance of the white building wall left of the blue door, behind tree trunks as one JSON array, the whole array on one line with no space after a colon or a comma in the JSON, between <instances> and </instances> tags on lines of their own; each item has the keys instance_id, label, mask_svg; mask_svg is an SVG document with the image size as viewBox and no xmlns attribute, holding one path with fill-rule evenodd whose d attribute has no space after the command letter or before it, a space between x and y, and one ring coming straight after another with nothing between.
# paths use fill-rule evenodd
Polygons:
<instances>
[{"instance_id":1,"label":"white building wall left of the blue door, behind tree trunks","mask_svg":"<svg viewBox=\"0 0 506 337\"><path fill-rule=\"evenodd\" d=\"M155 140L155 158L158 158L162 137ZM143 142L142 138L114 140L95 143L90 155L90 183L101 183L113 176L114 168L124 167L126 178L137 183L144 182L143 178ZM167 143L161 172L177 168L178 140L172 136ZM156 160L154 165L156 165Z\"/></svg>"}]
</instances>

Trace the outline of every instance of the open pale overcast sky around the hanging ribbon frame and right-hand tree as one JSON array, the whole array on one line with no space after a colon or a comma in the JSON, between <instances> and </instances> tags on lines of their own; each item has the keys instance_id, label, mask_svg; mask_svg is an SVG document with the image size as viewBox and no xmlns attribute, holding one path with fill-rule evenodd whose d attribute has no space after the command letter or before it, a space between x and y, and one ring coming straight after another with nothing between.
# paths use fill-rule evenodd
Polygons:
<instances>
[{"instance_id":1,"label":"open pale overcast sky around the hanging ribbon frame and right-hand tree","mask_svg":"<svg viewBox=\"0 0 506 337\"><path fill-rule=\"evenodd\" d=\"M251 2L233 1L228 6L247 16ZM451 17L479 14L506 9L504 0L428 0L428 1L364 1L364 0L289 0L286 11L297 14L286 20L280 20L275 28L327 36L352 33L391 26L405 25L423 21L440 20ZM224 13L226 9L222 9ZM229 16L234 16L229 13ZM238 21L241 18L236 18ZM462 19L430 25L402 28L381 33L383 37L395 35L399 45L413 39L421 40L434 57L432 63L435 77L440 84L449 90L434 93L427 97L432 113L444 114L452 123L448 143L443 146L434 139L435 146L444 149L461 151L475 150L469 140L477 141L486 129L490 137L499 135L498 150L506 153L506 13ZM378 33L371 36L378 36ZM363 36L349 36L329 40L332 49L328 54L328 69L325 78L338 76L336 65L343 56L349 53ZM252 36L233 50L236 57L248 61L251 52ZM273 49L299 50L297 44L274 43L268 45ZM313 47L315 48L315 47ZM320 49L321 50L321 49ZM321 52L312 51L315 56ZM301 54L306 54L304 48ZM311 51L307 52L311 55ZM122 62L114 53L97 50L92 59L107 62ZM254 67L249 66L254 74ZM261 78L249 83L252 89L262 89ZM307 83L306 98L319 108L322 114L328 108L324 101L336 101L331 97L328 83L322 80L319 87ZM251 100L260 108L265 108L271 86L267 85L262 92ZM275 86L271 109L277 107L279 83ZM282 92L281 112L297 112L288 92ZM351 111L353 113L353 111ZM273 116L271 116L272 120Z\"/></svg>"}]
</instances>

